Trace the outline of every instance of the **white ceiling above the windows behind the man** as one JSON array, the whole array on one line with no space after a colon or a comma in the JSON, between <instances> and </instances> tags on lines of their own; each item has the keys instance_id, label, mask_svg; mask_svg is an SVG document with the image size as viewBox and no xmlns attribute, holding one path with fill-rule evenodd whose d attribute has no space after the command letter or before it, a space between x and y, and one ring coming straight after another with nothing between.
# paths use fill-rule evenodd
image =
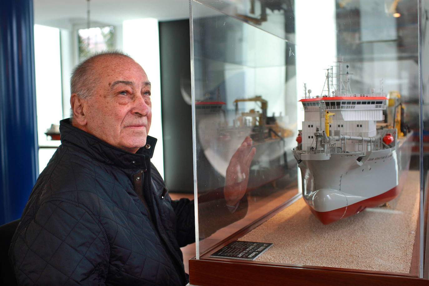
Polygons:
<instances>
[{"instance_id":1,"label":"white ceiling above the windows behind the man","mask_svg":"<svg viewBox=\"0 0 429 286\"><path fill-rule=\"evenodd\" d=\"M87 0L33 0L34 23L58 28L84 24ZM91 22L118 25L124 20L189 18L188 0L90 0Z\"/></svg>"}]
</instances>

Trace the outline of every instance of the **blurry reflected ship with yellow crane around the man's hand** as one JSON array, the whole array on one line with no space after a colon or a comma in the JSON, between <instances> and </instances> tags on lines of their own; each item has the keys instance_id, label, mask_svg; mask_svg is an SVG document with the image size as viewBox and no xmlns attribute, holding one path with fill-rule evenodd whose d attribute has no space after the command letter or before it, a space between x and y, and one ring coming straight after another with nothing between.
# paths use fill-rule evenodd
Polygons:
<instances>
[{"instance_id":1,"label":"blurry reflected ship with yellow crane around the man's hand","mask_svg":"<svg viewBox=\"0 0 429 286\"><path fill-rule=\"evenodd\" d=\"M251 109L239 113L239 102L259 103L261 111ZM195 103L198 139L210 165L224 176L232 154L243 139L250 136L256 154L250 168L248 188L255 189L283 177L287 170L284 138L293 133L282 127L281 114L267 116L268 102L262 96L236 99L232 120L227 119L225 105L221 101Z\"/></svg>"}]
</instances>

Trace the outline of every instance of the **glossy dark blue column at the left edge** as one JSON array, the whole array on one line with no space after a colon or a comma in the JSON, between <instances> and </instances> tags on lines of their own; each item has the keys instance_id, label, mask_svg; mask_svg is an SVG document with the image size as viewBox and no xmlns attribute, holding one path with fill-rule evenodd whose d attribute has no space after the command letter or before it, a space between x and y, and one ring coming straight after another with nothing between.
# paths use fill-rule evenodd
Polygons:
<instances>
[{"instance_id":1,"label":"glossy dark blue column at the left edge","mask_svg":"<svg viewBox=\"0 0 429 286\"><path fill-rule=\"evenodd\" d=\"M38 175L33 0L0 1L0 224L21 217Z\"/></svg>"}]
</instances>

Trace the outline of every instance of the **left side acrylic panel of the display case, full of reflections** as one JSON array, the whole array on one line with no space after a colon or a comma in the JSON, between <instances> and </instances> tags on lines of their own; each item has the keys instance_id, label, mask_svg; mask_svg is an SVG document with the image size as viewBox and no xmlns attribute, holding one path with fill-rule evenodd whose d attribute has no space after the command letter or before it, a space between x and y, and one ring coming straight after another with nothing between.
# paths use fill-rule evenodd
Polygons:
<instances>
[{"instance_id":1,"label":"left side acrylic panel of the display case, full of reflections","mask_svg":"<svg viewBox=\"0 0 429 286\"><path fill-rule=\"evenodd\" d=\"M296 83L294 57L287 54L294 45L200 3L192 2L192 10L202 253L298 193L291 152L297 134ZM248 178L242 176L245 170L238 174L248 180L245 202L235 211L221 200L206 202L212 193L222 195L227 167L246 136L256 153ZM215 214L224 221L212 220Z\"/></svg>"}]
</instances>

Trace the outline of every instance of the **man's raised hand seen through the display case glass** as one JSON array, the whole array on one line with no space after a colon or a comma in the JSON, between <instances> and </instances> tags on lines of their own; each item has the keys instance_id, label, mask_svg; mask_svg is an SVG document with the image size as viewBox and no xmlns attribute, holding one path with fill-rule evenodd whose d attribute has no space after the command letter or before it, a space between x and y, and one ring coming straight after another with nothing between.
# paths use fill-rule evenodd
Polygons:
<instances>
[{"instance_id":1,"label":"man's raised hand seen through the display case glass","mask_svg":"<svg viewBox=\"0 0 429 286\"><path fill-rule=\"evenodd\" d=\"M227 205L234 206L245 195L249 181L250 163L256 149L252 148L252 139L247 136L231 157L225 177L224 197Z\"/></svg>"}]
</instances>

